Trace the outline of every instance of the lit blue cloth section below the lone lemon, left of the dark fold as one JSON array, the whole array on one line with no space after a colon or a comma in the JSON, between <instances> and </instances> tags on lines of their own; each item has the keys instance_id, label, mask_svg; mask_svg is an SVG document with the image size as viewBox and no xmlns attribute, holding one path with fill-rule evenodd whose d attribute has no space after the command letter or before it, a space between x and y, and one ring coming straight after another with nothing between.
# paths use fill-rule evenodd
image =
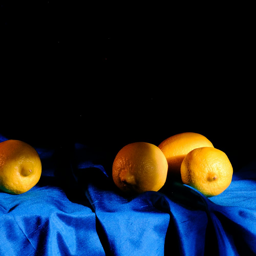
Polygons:
<instances>
[{"instance_id":1,"label":"lit blue cloth section below the lone lemon, left of the dark fold","mask_svg":"<svg viewBox=\"0 0 256 256\"><path fill-rule=\"evenodd\" d=\"M57 187L34 187L21 195L0 193L0 203L5 209L0 255L105 255L95 214L70 202Z\"/></svg>"}]
</instances>

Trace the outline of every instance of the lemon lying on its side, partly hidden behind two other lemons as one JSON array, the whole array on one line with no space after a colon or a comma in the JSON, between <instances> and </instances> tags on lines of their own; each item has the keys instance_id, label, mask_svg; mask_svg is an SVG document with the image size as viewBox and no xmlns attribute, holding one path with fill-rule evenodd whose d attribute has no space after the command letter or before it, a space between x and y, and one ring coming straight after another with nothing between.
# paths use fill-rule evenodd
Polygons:
<instances>
[{"instance_id":1,"label":"lemon lying on its side, partly hidden behind two other lemons","mask_svg":"<svg viewBox=\"0 0 256 256\"><path fill-rule=\"evenodd\" d=\"M198 147L214 147L204 136L195 132L184 132L170 136L158 146L168 163L168 174L180 176L180 166L185 156Z\"/></svg>"}]
</instances>

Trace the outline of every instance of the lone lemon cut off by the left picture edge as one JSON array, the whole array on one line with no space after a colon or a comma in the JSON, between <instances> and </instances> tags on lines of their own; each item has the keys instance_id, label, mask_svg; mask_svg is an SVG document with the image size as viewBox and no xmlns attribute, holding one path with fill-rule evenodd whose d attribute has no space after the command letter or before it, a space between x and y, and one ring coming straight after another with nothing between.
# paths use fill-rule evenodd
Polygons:
<instances>
[{"instance_id":1,"label":"lone lemon cut off by the left picture edge","mask_svg":"<svg viewBox=\"0 0 256 256\"><path fill-rule=\"evenodd\" d=\"M25 193L37 184L41 171L34 147L19 140L0 143L0 190L14 195Z\"/></svg>"}]
</instances>

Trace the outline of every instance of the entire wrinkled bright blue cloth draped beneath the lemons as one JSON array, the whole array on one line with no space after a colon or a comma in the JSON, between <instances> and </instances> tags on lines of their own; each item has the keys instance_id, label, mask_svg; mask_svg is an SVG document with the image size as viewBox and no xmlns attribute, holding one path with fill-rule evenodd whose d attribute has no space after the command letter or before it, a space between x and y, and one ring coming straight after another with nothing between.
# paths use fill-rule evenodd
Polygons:
<instances>
[{"instance_id":1,"label":"entire wrinkled bright blue cloth draped beneath the lemons","mask_svg":"<svg viewBox=\"0 0 256 256\"><path fill-rule=\"evenodd\" d=\"M256 162L215 197L168 178L158 192L126 197L86 145L36 150L38 184L0 193L0 256L256 255Z\"/></svg>"}]
</instances>

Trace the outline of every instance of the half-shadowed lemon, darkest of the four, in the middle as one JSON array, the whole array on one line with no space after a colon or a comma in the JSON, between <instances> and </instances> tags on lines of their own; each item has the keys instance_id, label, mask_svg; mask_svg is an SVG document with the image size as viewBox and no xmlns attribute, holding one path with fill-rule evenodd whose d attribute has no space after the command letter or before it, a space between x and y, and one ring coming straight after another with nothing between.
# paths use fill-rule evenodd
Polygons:
<instances>
[{"instance_id":1,"label":"half-shadowed lemon, darkest of the four, in the middle","mask_svg":"<svg viewBox=\"0 0 256 256\"><path fill-rule=\"evenodd\" d=\"M112 176L125 193L158 191L165 184L168 164L163 152L151 143L134 142L116 155Z\"/></svg>"}]
</instances>

